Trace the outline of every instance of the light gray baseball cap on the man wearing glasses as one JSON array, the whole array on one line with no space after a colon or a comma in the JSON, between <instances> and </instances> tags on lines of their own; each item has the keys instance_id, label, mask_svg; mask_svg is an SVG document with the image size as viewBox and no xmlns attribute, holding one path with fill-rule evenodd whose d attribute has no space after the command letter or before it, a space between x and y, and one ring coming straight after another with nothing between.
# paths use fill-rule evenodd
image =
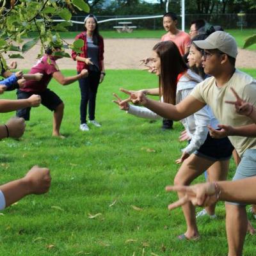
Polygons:
<instances>
[{"instance_id":1,"label":"light gray baseball cap on the man wearing glasses","mask_svg":"<svg viewBox=\"0 0 256 256\"><path fill-rule=\"evenodd\" d=\"M233 36L224 31L216 31L205 40L194 41L197 47L205 50L218 49L230 57L236 58L237 44Z\"/></svg>"}]
</instances>

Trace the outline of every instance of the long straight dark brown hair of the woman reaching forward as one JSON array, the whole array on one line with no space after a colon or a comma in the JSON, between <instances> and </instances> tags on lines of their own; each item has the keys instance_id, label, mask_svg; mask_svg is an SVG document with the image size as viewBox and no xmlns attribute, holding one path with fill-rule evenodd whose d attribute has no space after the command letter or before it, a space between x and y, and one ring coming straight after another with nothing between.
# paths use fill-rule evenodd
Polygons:
<instances>
[{"instance_id":1,"label":"long straight dark brown hair of the woman reaching forward","mask_svg":"<svg viewBox=\"0 0 256 256\"><path fill-rule=\"evenodd\" d=\"M186 72L188 67L180 55L177 45L172 41L156 44L153 51L157 53L161 61L159 95L163 95L164 102L175 104L177 78L180 73Z\"/></svg>"}]
</instances>

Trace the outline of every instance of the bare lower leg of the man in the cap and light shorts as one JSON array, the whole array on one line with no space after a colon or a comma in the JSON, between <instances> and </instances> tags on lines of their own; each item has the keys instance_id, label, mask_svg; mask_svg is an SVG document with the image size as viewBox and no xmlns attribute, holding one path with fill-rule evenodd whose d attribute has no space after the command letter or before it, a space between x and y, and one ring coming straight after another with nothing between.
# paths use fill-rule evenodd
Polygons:
<instances>
[{"instance_id":1,"label":"bare lower leg of the man in the cap and light shorts","mask_svg":"<svg viewBox=\"0 0 256 256\"><path fill-rule=\"evenodd\" d=\"M242 256L244 238L247 231L245 206L226 203L226 230L228 256Z\"/></svg>"}]
</instances>

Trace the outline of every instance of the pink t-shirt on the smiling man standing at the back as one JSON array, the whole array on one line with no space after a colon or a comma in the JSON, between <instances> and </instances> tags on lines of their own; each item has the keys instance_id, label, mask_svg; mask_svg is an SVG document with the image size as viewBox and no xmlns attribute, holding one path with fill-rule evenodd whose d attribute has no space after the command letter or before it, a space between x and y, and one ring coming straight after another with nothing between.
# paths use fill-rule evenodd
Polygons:
<instances>
[{"instance_id":1,"label":"pink t-shirt on the smiling man standing at the back","mask_svg":"<svg viewBox=\"0 0 256 256\"><path fill-rule=\"evenodd\" d=\"M172 35L172 38L170 37L170 33L168 32L162 36L161 41L172 41L173 43L175 43L179 48L180 54L182 56L185 54L185 48L188 48L191 45L190 36L184 31L179 31L177 35Z\"/></svg>"}]
</instances>

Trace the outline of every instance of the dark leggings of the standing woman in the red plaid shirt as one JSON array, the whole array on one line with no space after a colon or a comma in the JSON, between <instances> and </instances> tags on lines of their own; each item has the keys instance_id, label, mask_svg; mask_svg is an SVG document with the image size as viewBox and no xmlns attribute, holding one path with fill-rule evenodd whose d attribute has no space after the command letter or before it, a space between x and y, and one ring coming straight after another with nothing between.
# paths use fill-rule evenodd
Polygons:
<instances>
[{"instance_id":1,"label":"dark leggings of the standing woman in the red plaid shirt","mask_svg":"<svg viewBox=\"0 0 256 256\"><path fill-rule=\"evenodd\" d=\"M79 79L81 91L80 120L86 124L87 105L89 102L89 119L95 119L96 94L100 81L100 72L89 71L88 77Z\"/></svg>"}]
</instances>

